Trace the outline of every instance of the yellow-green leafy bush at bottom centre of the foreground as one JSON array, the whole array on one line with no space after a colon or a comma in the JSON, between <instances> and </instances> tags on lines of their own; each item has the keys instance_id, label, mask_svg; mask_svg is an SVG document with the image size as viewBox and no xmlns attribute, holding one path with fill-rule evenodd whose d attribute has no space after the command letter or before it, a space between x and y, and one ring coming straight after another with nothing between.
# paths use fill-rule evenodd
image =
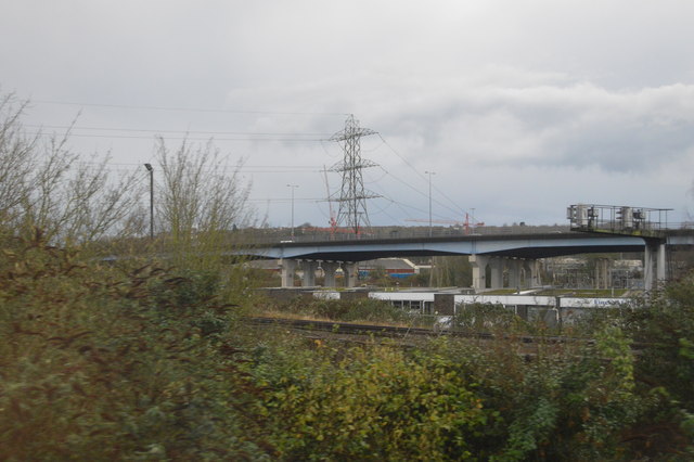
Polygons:
<instances>
[{"instance_id":1,"label":"yellow-green leafy bush at bottom centre of the foreground","mask_svg":"<svg viewBox=\"0 0 694 462\"><path fill-rule=\"evenodd\" d=\"M487 420L450 361L390 347L327 356L273 385L267 409L283 459L467 459L467 437Z\"/></svg>"}]
</instances>

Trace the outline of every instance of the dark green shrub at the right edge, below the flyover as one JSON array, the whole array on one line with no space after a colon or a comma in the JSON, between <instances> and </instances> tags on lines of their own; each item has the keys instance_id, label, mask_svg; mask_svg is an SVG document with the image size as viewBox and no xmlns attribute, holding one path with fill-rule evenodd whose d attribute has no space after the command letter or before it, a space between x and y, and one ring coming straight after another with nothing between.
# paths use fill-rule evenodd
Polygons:
<instances>
[{"instance_id":1,"label":"dark green shrub at the right edge, below the flyover","mask_svg":"<svg viewBox=\"0 0 694 462\"><path fill-rule=\"evenodd\" d=\"M694 273L673 281L630 310L625 331L639 348L634 365L646 407L627 438L648 457L694 457Z\"/></svg>"}]
</instances>

